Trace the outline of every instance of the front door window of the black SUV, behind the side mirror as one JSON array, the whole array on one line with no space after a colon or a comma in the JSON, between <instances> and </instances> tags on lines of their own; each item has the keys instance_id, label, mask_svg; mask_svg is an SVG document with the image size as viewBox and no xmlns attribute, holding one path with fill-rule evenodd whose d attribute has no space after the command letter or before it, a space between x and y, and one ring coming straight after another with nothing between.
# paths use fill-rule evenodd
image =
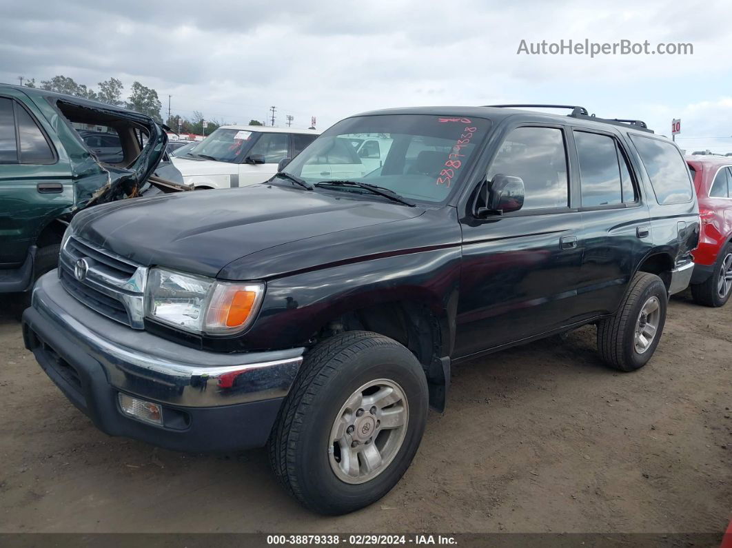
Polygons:
<instances>
[{"instance_id":1,"label":"front door window of the black SUV, behind the side mirror","mask_svg":"<svg viewBox=\"0 0 732 548\"><path fill-rule=\"evenodd\" d=\"M501 144L488 179L501 173L523 179L523 210L567 207L567 150L561 130L519 127Z\"/></svg>"}]
</instances>

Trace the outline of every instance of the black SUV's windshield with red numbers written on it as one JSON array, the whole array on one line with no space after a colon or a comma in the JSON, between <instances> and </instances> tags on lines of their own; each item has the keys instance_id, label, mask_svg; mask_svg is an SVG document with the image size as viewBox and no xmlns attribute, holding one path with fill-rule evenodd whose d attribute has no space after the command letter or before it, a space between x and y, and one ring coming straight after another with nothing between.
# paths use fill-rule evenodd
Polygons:
<instances>
[{"instance_id":1,"label":"black SUV's windshield with red numbers written on it","mask_svg":"<svg viewBox=\"0 0 732 548\"><path fill-rule=\"evenodd\" d=\"M480 118L357 116L324 132L285 172L311 184L357 181L404 198L441 202L460 184L488 127L490 121Z\"/></svg>"}]
</instances>

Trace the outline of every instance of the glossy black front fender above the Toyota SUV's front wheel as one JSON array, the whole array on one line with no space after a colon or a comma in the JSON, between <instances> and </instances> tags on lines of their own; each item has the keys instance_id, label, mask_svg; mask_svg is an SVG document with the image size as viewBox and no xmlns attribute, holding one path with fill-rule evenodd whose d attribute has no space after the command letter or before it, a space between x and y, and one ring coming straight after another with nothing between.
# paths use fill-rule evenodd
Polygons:
<instances>
[{"instance_id":1,"label":"glossy black front fender above the Toyota SUV's front wheel","mask_svg":"<svg viewBox=\"0 0 732 548\"><path fill-rule=\"evenodd\" d=\"M236 342L247 350L308 345L323 326L346 312L406 302L427 307L438 320L438 354L449 356L455 340L460 257L460 246L455 246L272 280L253 328Z\"/></svg>"}]
</instances>

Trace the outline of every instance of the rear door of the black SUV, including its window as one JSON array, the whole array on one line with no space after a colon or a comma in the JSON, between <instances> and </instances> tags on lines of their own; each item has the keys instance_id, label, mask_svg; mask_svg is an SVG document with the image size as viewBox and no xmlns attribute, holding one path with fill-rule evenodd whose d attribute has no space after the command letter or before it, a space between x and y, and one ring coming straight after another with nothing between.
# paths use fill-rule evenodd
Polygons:
<instances>
[{"instance_id":1,"label":"rear door of the black SUV, including its window","mask_svg":"<svg viewBox=\"0 0 732 548\"><path fill-rule=\"evenodd\" d=\"M650 214L637 169L613 132L575 128L584 248L578 293L583 318L615 311L641 258L651 248Z\"/></svg>"}]
</instances>

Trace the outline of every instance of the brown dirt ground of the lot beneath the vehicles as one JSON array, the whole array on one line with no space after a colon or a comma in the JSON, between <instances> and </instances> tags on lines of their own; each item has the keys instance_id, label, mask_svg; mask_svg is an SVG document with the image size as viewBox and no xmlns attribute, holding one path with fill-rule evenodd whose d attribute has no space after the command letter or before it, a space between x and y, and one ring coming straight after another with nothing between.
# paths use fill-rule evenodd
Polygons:
<instances>
[{"instance_id":1,"label":"brown dirt ground of the lot beneath the vehicles","mask_svg":"<svg viewBox=\"0 0 732 548\"><path fill-rule=\"evenodd\" d=\"M263 450L109 438L0 318L0 532L720 532L732 511L732 304L672 299L654 359L606 369L595 329L454 368L414 463L380 502L319 517Z\"/></svg>"}]
</instances>

